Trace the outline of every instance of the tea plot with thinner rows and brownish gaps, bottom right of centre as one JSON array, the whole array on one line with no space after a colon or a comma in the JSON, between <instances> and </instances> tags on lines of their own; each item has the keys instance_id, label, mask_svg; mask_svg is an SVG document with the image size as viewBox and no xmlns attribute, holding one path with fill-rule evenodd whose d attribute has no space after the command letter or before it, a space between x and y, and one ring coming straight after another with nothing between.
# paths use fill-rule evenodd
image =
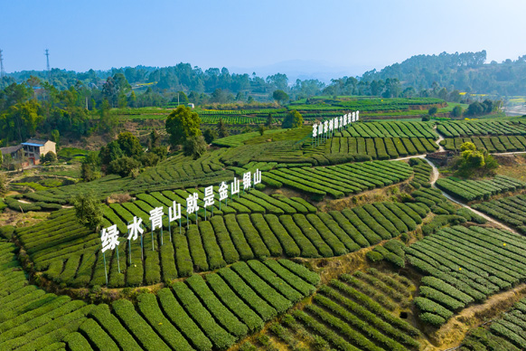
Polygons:
<instances>
[{"instance_id":1,"label":"tea plot with thinner rows and brownish gaps, bottom right of centre","mask_svg":"<svg viewBox=\"0 0 526 351\"><path fill-rule=\"evenodd\" d=\"M409 311L414 289L409 280L374 269L343 274L321 286L305 308L271 324L254 343L282 350L417 349L418 329L394 315Z\"/></svg>"}]
</instances>

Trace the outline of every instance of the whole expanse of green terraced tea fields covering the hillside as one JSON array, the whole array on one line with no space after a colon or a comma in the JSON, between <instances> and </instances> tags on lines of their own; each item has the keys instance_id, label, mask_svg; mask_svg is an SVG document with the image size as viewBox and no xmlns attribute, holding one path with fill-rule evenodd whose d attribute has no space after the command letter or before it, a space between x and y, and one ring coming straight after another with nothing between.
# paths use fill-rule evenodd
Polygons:
<instances>
[{"instance_id":1,"label":"whole expanse of green terraced tea fields covering the hillside","mask_svg":"<svg viewBox=\"0 0 526 351\"><path fill-rule=\"evenodd\" d=\"M221 118L231 132L201 156L174 147L133 175L75 184L62 174L80 172L75 160L89 154L62 148L66 165L21 173L0 202L0 350L419 351L456 324L459 349L523 348L524 302L493 301L523 297L526 183L461 179L425 158L465 141L522 151L521 119L379 119L312 138L314 119L354 109L419 116L431 106L447 109L363 97L200 109L202 129ZM248 131L295 108L308 111L302 128ZM111 113L142 123L171 110ZM141 138L154 128L145 123ZM260 183L231 194L235 178L257 171ZM220 203L223 182L230 194ZM74 208L87 192L98 230ZM170 221L174 204L181 218ZM144 232L128 240L137 219ZM103 251L113 225L118 244ZM482 304L490 323L456 318Z\"/></svg>"}]
</instances>

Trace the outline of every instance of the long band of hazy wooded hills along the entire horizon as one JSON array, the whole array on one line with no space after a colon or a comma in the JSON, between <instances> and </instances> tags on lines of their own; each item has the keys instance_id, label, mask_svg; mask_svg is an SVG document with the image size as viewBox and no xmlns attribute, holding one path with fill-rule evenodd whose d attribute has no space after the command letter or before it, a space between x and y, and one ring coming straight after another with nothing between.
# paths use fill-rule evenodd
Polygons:
<instances>
[{"instance_id":1,"label":"long band of hazy wooded hills along the entire horizon","mask_svg":"<svg viewBox=\"0 0 526 351\"><path fill-rule=\"evenodd\" d=\"M356 72L363 70L363 66L330 67L324 62L302 60L278 62L265 67L232 68L234 71L232 73L227 68L221 70L210 68L203 71L190 63L181 62L170 67L136 66L112 68L108 71L76 72L52 69L52 85L59 90L65 90L80 81L89 88L101 89L108 77L123 73L133 86L147 83L157 91L183 90L187 93L190 91L211 93L221 89L234 94L242 91L268 95L274 90L281 89L299 96L321 93L380 95L374 93L371 86L383 86L380 81L389 85L387 80L390 79L391 83L392 80L399 81L396 81L396 84L399 84L400 92L408 87L413 87L417 92L422 89L445 87L450 91L460 90L475 94L526 95L526 55L516 61L484 62L486 62L484 50L416 55L404 62L391 64L380 71L366 71L362 77L356 76ZM253 75L252 70L257 75ZM45 81L48 73L47 71L8 73L5 81L0 82L0 88L13 81L27 81L32 75ZM354 76L356 79L353 78ZM338 77L343 79L338 80ZM373 81L376 82L370 84ZM344 87L339 86L341 84L351 84L352 89L343 89Z\"/></svg>"}]
</instances>

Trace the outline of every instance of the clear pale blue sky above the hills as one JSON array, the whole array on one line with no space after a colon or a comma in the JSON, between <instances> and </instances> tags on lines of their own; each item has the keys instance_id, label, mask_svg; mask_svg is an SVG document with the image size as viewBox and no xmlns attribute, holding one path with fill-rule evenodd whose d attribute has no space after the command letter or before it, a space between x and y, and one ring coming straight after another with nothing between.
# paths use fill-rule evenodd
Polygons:
<instances>
[{"instance_id":1,"label":"clear pale blue sky above the hills","mask_svg":"<svg viewBox=\"0 0 526 351\"><path fill-rule=\"evenodd\" d=\"M526 53L524 1L0 0L5 71L52 67L255 68L302 60L381 69L411 55Z\"/></svg>"}]
</instances>

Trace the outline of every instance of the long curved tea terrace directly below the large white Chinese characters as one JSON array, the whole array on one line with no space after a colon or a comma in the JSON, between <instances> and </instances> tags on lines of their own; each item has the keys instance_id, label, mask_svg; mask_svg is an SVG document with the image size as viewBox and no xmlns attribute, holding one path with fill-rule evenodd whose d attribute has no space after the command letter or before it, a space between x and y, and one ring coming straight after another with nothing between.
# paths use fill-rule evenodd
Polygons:
<instances>
[{"instance_id":1,"label":"long curved tea terrace directly below the large white Chinese characters","mask_svg":"<svg viewBox=\"0 0 526 351\"><path fill-rule=\"evenodd\" d=\"M249 194L246 198L251 199ZM106 207L105 225L116 223L123 235L118 250L106 257L99 252L99 234L81 226L72 210L55 212L48 221L18 229L15 234L35 269L54 282L72 287L105 285L107 260L108 286L123 288L187 277L194 271L216 270L236 261L340 256L413 231L427 215L418 205L401 203L315 213L315 207L300 198L268 197L275 203L263 207L263 201L258 203L258 197L253 196L253 203L239 203L247 213L216 213L210 221L181 229L173 224L171 234L166 229L162 234L146 231L141 250L141 241L128 246L125 223L133 215L148 218L146 201L158 200L153 195L143 199ZM146 220L146 227L149 225Z\"/></svg>"}]
</instances>

